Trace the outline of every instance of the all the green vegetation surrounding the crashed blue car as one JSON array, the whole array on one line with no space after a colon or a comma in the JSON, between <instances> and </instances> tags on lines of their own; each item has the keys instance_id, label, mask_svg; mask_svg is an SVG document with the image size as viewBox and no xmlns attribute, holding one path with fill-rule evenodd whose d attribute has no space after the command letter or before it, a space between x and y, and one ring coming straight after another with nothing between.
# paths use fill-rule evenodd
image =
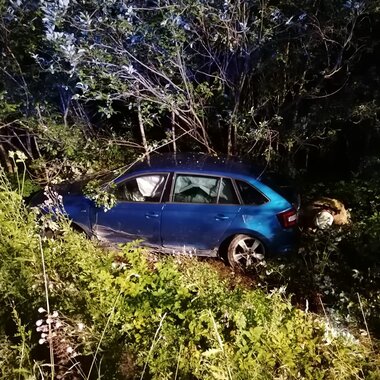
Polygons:
<instances>
[{"instance_id":1,"label":"all the green vegetation surrounding the crashed blue car","mask_svg":"<svg viewBox=\"0 0 380 380\"><path fill-rule=\"evenodd\" d=\"M0 0L0 378L379 378L379 29L375 0ZM353 224L251 286L25 207L168 151L263 163Z\"/></svg>"}]
</instances>

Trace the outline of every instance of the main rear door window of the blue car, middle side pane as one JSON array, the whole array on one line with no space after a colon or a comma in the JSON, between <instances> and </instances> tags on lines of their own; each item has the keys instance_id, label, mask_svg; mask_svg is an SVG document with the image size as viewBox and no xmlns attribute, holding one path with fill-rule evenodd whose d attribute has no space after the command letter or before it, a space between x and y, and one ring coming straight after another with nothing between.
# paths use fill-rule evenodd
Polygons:
<instances>
[{"instance_id":1,"label":"main rear door window of the blue car, middle side pane","mask_svg":"<svg viewBox=\"0 0 380 380\"><path fill-rule=\"evenodd\" d=\"M216 203L219 178L185 175L176 176L173 202Z\"/></svg>"}]
</instances>

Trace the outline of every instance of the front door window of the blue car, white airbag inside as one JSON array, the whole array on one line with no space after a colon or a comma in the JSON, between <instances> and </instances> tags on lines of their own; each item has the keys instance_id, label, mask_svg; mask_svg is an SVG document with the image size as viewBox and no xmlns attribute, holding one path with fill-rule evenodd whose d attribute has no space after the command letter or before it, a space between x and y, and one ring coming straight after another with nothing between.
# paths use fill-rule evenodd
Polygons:
<instances>
[{"instance_id":1,"label":"front door window of the blue car, white airbag inside","mask_svg":"<svg viewBox=\"0 0 380 380\"><path fill-rule=\"evenodd\" d=\"M166 175L154 174L135 177L116 187L115 196L126 202L160 202Z\"/></svg>"}]
</instances>

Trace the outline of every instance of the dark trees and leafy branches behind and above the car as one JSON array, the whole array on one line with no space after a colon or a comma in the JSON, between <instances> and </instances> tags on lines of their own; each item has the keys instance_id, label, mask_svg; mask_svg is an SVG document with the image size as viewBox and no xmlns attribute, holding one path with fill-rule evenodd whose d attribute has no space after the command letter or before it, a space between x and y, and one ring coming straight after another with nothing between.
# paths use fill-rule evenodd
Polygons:
<instances>
[{"instance_id":1,"label":"dark trees and leafy branches behind and above the car","mask_svg":"<svg viewBox=\"0 0 380 380\"><path fill-rule=\"evenodd\" d=\"M375 3L4 0L1 142L40 170L158 146L354 165L379 139Z\"/></svg>"}]
</instances>

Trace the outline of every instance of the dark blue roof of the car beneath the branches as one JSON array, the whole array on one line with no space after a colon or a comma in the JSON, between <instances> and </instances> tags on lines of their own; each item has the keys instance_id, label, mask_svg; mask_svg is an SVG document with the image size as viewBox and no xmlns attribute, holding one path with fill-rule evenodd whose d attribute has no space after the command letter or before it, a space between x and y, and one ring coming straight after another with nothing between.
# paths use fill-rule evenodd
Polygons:
<instances>
[{"instance_id":1,"label":"dark blue roof of the car beneath the branches","mask_svg":"<svg viewBox=\"0 0 380 380\"><path fill-rule=\"evenodd\" d=\"M220 175L246 175L257 178L261 171L250 163L227 156L211 156L203 153L177 153L152 155L137 162L125 174L138 172L183 171L209 172Z\"/></svg>"}]
</instances>

